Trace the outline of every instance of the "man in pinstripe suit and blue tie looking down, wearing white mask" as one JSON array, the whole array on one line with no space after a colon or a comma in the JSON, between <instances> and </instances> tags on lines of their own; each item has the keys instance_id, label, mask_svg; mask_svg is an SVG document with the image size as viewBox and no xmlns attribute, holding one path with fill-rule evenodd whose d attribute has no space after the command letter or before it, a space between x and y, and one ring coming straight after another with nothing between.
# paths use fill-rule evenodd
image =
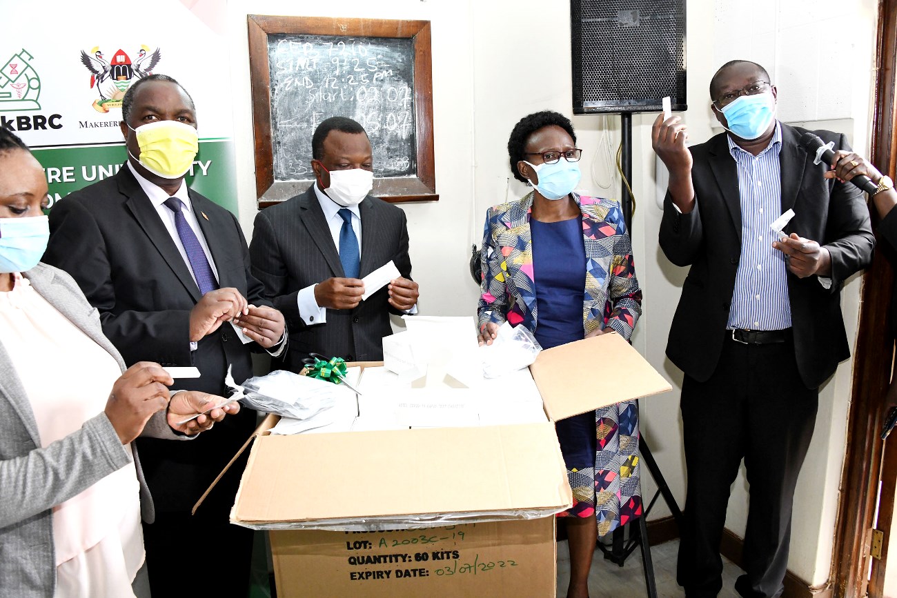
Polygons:
<instances>
[{"instance_id":1,"label":"man in pinstripe suit and blue tie looking down, wearing white mask","mask_svg":"<svg viewBox=\"0 0 897 598\"><path fill-rule=\"evenodd\" d=\"M389 312L414 313L418 298L405 212L369 195L373 163L364 129L327 118L311 145L315 184L258 212L249 247L253 274L288 323L281 367L292 371L311 351L382 360ZM390 260L401 275L361 300L361 278Z\"/></svg>"}]
</instances>

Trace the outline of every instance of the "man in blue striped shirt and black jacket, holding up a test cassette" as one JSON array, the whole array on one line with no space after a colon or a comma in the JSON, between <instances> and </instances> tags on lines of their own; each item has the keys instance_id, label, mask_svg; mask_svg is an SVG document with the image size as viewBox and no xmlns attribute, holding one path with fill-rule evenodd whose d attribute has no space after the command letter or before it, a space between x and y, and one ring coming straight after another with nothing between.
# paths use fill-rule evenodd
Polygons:
<instances>
[{"instance_id":1,"label":"man in blue striped shirt and black jacket, holding up a test cassette","mask_svg":"<svg viewBox=\"0 0 897 598\"><path fill-rule=\"evenodd\" d=\"M729 487L745 460L750 507L742 596L784 589L797 473L813 436L818 389L849 346L840 287L875 246L857 187L823 173L775 118L761 66L723 65L711 106L727 133L686 147L680 117L658 117L652 143L669 169L660 246L689 265L666 354L684 371L688 471L678 581L688 596L722 587L719 542ZM841 134L814 131L835 150ZM771 228L795 216L784 233Z\"/></svg>"}]
</instances>

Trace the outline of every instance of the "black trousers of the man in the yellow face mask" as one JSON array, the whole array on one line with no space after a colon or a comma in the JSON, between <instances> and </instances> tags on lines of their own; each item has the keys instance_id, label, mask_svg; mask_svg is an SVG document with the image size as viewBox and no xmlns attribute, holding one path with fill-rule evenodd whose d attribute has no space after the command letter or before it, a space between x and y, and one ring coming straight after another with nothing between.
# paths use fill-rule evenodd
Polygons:
<instances>
[{"instance_id":1,"label":"black trousers of the man in the yellow face mask","mask_svg":"<svg viewBox=\"0 0 897 598\"><path fill-rule=\"evenodd\" d=\"M248 596L252 530L220 512L156 513L144 523L144 546L153 598Z\"/></svg>"}]
</instances>

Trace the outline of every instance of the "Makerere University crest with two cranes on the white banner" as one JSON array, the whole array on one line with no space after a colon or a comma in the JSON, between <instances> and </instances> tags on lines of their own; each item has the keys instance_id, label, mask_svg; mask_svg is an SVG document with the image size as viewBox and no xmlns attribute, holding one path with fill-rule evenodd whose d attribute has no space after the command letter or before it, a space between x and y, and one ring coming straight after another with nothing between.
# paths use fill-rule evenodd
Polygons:
<instances>
[{"instance_id":1,"label":"Makerere University crest with two cranes on the white banner","mask_svg":"<svg viewBox=\"0 0 897 598\"><path fill-rule=\"evenodd\" d=\"M105 114L110 108L121 108L127 88L137 79L152 74L161 56L160 48L151 52L147 46L141 46L132 64L131 57L120 48L109 59L99 46L94 46L90 54L82 50L81 64L91 72L91 89L96 89L100 96L93 100L93 109Z\"/></svg>"}]
</instances>

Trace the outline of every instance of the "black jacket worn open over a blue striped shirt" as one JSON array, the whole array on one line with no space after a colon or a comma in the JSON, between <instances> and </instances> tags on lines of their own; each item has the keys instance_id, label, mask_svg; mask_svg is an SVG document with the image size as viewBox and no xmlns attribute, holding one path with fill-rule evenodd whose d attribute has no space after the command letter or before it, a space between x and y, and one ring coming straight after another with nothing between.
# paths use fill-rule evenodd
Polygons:
<instances>
[{"instance_id":1,"label":"black jacket worn open over a blue striped shirt","mask_svg":"<svg viewBox=\"0 0 897 598\"><path fill-rule=\"evenodd\" d=\"M814 165L798 144L805 129L781 125L781 211L795 217L785 232L824 245L832 256L832 289L816 276L788 273L788 298L797 368L807 388L822 385L849 355L840 312L840 287L872 260L875 238L862 192L823 178L825 164ZM849 150L843 135L814 131L835 149ZM705 381L717 367L726 337L729 304L741 256L741 207L736 162L726 134L692 146L697 204L687 214L666 195L660 247L676 265L691 265L670 328L666 355L689 376Z\"/></svg>"}]
</instances>

